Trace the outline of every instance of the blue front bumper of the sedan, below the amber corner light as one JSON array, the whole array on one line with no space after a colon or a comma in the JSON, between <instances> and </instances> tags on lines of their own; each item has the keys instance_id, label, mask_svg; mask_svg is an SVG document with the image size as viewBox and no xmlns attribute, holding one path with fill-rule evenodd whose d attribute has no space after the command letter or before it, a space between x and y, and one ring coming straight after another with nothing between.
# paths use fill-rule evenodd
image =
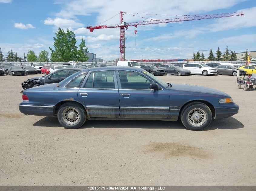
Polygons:
<instances>
[{"instance_id":1,"label":"blue front bumper of the sedan, below the amber corner light","mask_svg":"<svg viewBox=\"0 0 256 191\"><path fill-rule=\"evenodd\" d=\"M215 107L214 119L222 119L226 117L231 117L238 113L239 106L234 103L231 107Z\"/></svg>"}]
</instances>

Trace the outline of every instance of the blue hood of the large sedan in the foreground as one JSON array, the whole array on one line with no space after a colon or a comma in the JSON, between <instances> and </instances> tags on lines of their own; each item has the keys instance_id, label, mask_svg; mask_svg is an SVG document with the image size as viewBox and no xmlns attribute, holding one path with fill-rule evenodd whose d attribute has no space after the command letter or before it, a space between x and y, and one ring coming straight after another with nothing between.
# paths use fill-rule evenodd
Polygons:
<instances>
[{"instance_id":1,"label":"blue hood of the large sedan in the foreground","mask_svg":"<svg viewBox=\"0 0 256 191\"><path fill-rule=\"evenodd\" d=\"M228 96L228 94L211 89L211 88L206 88L202 86L195 86L195 85L188 85L188 84L171 84L171 90L178 90L178 91L189 91L189 92L194 92L194 93L203 93L203 94L217 94L221 96Z\"/></svg>"}]
</instances>

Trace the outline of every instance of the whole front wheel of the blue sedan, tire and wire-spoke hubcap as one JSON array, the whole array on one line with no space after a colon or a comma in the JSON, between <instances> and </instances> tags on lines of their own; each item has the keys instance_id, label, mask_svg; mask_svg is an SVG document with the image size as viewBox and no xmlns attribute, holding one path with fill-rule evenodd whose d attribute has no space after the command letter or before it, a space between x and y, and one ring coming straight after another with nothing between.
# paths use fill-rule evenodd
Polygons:
<instances>
[{"instance_id":1,"label":"whole front wheel of the blue sedan, tire and wire-spoke hubcap","mask_svg":"<svg viewBox=\"0 0 256 191\"><path fill-rule=\"evenodd\" d=\"M181 111L181 122L189 130L203 130L210 125L211 119L211 110L204 103L190 103Z\"/></svg>"}]
</instances>

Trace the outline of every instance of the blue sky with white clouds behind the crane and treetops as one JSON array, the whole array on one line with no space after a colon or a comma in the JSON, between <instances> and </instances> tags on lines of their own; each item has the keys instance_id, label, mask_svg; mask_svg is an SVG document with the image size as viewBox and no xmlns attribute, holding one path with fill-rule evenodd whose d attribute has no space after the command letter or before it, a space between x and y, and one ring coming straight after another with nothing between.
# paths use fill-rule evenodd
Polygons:
<instances>
[{"instance_id":1,"label":"blue sky with white clouds behind the crane and treetops","mask_svg":"<svg viewBox=\"0 0 256 191\"><path fill-rule=\"evenodd\" d=\"M226 46L236 52L256 51L255 0L0 0L0 47L5 55L10 49L19 56L29 49L38 54L41 49L49 50L55 32L61 27L75 31L77 44L85 38L89 52L97 57L116 59L120 57L120 29L97 29L90 33L85 27L98 25L120 11L143 13L125 14L125 22L244 12L237 17L128 27L126 59L191 59L198 50L207 57L209 50L215 52L218 46L222 51ZM117 15L104 25L119 23Z\"/></svg>"}]
</instances>

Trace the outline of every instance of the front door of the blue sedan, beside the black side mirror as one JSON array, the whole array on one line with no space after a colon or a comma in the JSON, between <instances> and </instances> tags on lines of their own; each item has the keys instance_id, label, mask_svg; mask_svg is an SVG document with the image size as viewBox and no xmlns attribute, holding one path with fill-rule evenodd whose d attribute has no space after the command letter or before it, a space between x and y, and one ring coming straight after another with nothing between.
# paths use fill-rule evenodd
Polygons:
<instances>
[{"instance_id":1,"label":"front door of the blue sedan, beside the black side mirror","mask_svg":"<svg viewBox=\"0 0 256 191\"><path fill-rule=\"evenodd\" d=\"M165 88L149 89L154 82L139 72L118 71L120 118L168 118L169 92Z\"/></svg>"}]
</instances>

